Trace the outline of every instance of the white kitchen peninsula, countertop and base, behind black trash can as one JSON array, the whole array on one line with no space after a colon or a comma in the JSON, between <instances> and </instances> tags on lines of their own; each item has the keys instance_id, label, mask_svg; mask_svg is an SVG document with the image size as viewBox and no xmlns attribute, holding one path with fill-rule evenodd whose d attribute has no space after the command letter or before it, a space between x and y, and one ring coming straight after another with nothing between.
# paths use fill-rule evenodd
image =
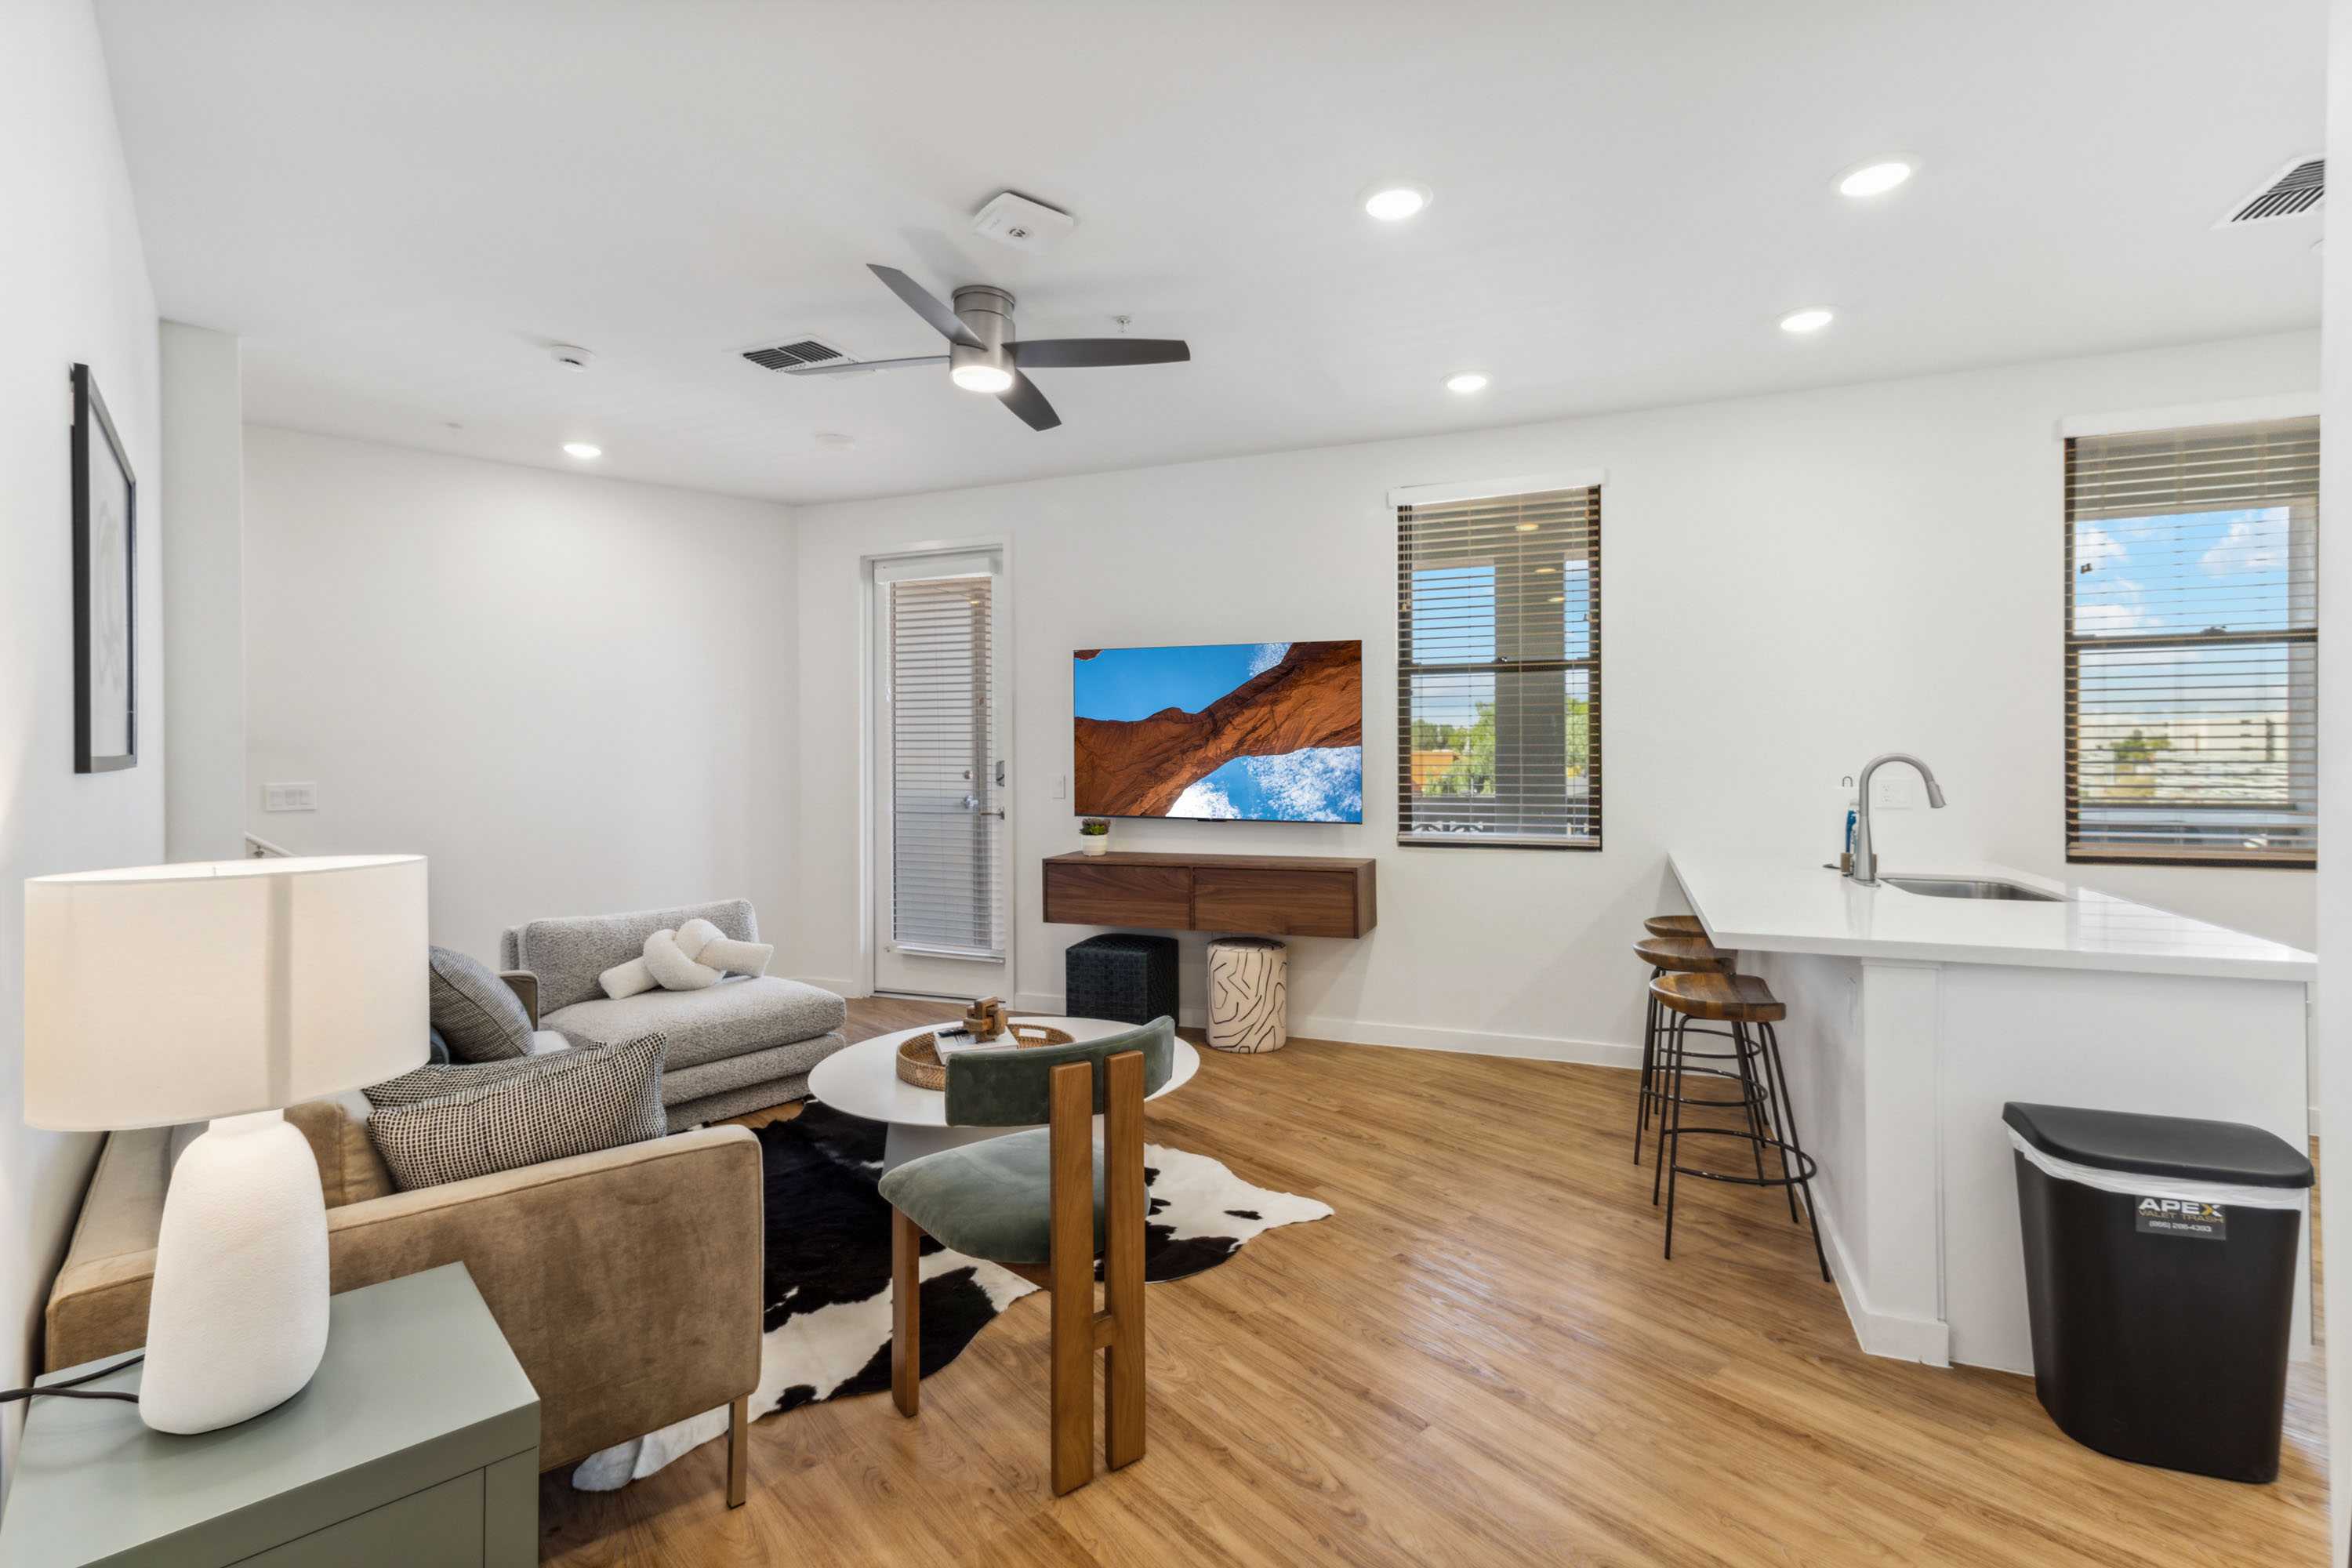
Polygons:
<instances>
[{"instance_id":1,"label":"white kitchen peninsula, countertop and base, behind black trash can","mask_svg":"<svg viewBox=\"0 0 2352 1568\"><path fill-rule=\"evenodd\" d=\"M1708 938L1788 1004L1820 1239L1872 1354L2032 1371L2009 1100L2307 1138L2307 952L2004 865L1891 870L2063 903L1865 889L1795 856L1670 865ZM1792 1237L1790 1267L1809 1265ZM2307 1227L2296 1345L2310 1354Z\"/></svg>"}]
</instances>

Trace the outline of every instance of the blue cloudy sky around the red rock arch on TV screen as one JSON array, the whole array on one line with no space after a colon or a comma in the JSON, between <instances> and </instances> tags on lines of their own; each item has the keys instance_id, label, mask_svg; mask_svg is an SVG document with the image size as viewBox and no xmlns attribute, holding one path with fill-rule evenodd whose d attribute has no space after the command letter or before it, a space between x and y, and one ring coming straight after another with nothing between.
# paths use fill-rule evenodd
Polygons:
<instances>
[{"instance_id":1,"label":"blue cloudy sky around the red rock arch on TV screen","mask_svg":"<svg viewBox=\"0 0 2352 1568\"><path fill-rule=\"evenodd\" d=\"M1103 649L1073 663L1082 719L1145 719L1162 708L1200 712L1249 677L1272 670L1287 642L1223 642L1169 649ZM1169 816L1261 823L1362 823L1364 748L1327 745L1277 757L1235 757L1195 780Z\"/></svg>"}]
</instances>

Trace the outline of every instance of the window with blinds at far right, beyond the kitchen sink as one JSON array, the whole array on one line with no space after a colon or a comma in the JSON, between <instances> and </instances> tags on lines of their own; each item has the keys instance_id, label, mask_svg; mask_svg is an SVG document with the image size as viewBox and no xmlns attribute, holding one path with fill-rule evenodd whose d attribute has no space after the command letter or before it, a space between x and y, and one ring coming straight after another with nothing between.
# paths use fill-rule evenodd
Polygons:
<instances>
[{"instance_id":1,"label":"window with blinds at far right, beyond the kitchen sink","mask_svg":"<svg viewBox=\"0 0 2352 1568\"><path fill-rule=\"evenodd\" d=\"M2067 860L2312 865L2319 421L2065 451Z\"/></svg>"}]
</instances>

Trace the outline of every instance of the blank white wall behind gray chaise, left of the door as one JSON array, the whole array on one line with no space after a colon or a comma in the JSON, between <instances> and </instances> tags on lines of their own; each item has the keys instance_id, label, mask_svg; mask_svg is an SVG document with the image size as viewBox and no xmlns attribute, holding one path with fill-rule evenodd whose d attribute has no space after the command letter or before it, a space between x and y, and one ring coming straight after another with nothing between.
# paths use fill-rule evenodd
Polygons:
<instances>
[{"instance_id":1,"label":"blank white wall behind gray chaise, left of the door","mask_svg":"<svg viewBox=\"0 0 2352 1568\"><path fill-rule=\"evenodd\" d=\"M247 428L247 825L423 851L433 940L800 896L790 515ZM263 813L268 783L315 813Z\"/></svg>"}]
</instances>

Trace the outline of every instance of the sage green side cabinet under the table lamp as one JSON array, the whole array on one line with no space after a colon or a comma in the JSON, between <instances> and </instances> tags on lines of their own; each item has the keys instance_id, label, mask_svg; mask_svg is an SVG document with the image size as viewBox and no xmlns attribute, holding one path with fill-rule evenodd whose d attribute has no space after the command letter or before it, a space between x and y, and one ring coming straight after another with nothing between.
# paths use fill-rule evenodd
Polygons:
<instances>
[{"instance_id":1,"label":"sage green side cabinet under the table lamp","mask_svg":"<svg viewBox=\"0 0 2352 1568\"><path fill-rule=\"evenodd\" d=\"M87 1387L136 1392L139 1368ZM336 1295L310 1387L235 1427L33 1399L0 1514L5 1568L536 1561L539 1394L463 1262Z\"/></svg>"}]
</instances>

